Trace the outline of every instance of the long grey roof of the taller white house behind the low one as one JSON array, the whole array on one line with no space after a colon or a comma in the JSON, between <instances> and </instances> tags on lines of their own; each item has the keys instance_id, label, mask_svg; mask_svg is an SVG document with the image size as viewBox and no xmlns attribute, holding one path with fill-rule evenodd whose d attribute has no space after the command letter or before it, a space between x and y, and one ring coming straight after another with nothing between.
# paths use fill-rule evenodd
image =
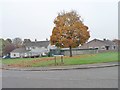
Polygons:
<instances>
[{"instance_id":1,"label":"long grey roof of the taller white house behind the low one","mask_svg":"<svg viewBox=\"0 0 120 90\"><path fill-rule=\"evenodd\" d=\"M50 44L50 41L34 41L34 42L24 43L24 45L27 46L27 47L31 47L31 46L47 47L49 44Z\"/></svg>"}]
</instances>

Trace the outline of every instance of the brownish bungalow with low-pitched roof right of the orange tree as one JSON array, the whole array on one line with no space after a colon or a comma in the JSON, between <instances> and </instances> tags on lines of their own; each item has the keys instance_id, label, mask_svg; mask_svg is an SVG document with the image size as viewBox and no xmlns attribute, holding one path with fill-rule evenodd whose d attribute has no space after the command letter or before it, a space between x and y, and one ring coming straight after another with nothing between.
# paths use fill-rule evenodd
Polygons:
<instances>
[{"instance_id":1,"label":"brownish bungalow with low-pitched roof right of the orange tree","mask_svg":"<svg viewBox=\"0 0 120 90\"><path fill-rule=\"evenodd\" d=\"M99 39L93 39L79 48L87 49L87 48L97 48L98 50L117 50L117 45L111 40L99 40Z\"/></svg>"}]
</instances>

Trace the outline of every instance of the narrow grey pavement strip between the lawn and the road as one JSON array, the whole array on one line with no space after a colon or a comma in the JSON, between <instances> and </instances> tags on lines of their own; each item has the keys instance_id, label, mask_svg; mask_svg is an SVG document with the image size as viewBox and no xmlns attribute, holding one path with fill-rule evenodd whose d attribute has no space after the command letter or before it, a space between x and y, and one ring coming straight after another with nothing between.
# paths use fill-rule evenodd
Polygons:
<instances>
[{"instance_id":1,"label":"narrow grey pavement strip between the lawn and the road","mask_svg":"<svg viewBox=\"0 0 120 90\"><path fill-rule=\"evenodd\" d=\"M84 65L69 65L69 66L49 66L49 67L7 67L3 66L2 70L17 70L17 71L53 71L53 70L74 70L74 69L91 69L119 66L118 62L84 64Z\"/></svg>"}]
</instances>

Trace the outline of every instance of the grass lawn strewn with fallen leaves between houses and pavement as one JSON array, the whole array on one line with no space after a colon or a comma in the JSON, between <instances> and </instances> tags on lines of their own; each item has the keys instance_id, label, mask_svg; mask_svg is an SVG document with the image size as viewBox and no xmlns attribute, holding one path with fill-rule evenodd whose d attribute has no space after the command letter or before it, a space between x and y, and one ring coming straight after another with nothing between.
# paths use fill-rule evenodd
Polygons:
<instances>
[{"instance_id":1,"label":"grass lawn strewn with fallen leaves between houses and pavement","mask_svg":"<svg viewBox=\"0 0 120 90\"><path fill-rule=\"evenodd\" d=\"M79 64L92 64L103 62L116 62L118 61L118 52L106 52L98 54L85 54L73 57L64 56L64 64L61 63L60 57L57 57L57 65L79 65ZM15 66L15 67L40 67L40 66L54 66L54 57L41 57L41 58L18 58L18 59L2 59L2 63Z\"/></svg>"}]
</instances>

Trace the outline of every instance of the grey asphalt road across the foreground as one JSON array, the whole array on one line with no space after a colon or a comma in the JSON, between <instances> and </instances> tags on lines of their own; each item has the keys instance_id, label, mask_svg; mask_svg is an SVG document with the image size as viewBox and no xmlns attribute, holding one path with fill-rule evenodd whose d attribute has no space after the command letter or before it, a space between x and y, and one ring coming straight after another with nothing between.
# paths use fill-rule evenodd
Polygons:
<instances>
[{"instance_id":1,"label":"grey asphalt road across the foreground","mask_svg":"<svg viewBox=\"0 0 120 90\"><path fill-rule=\"evenodd\" d=\"M3 71L3 88L118 88L118 67L63 71Z\"/></svg>"}]
</instances>

